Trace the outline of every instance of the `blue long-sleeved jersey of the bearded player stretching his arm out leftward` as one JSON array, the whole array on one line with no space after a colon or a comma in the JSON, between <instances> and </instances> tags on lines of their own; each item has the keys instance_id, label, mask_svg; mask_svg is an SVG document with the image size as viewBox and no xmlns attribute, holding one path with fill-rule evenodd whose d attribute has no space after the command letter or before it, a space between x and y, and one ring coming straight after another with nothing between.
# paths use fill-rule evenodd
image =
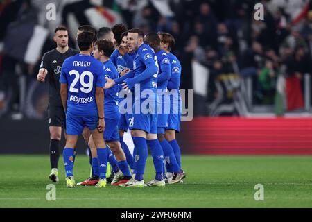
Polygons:
<instances>
[{"instance_id":1,"label":"blue long-sleeved jersey of the bearded player stretching his arm out leftward","mask_svg":"<svg viewBox=\"0 0 312 222\"><path fill-rule=\"evenodd\" d=\"M149 64L151 65L155 64L158 67L157 56L155 55L153 49L150 48L150 46L148 46L147 44L141 44L141 46L137 50L135 59L133 60L133 71L134 71L135 77L141 75L145 71L147 65ZM156 92L157 75L158 75L158 72L153 74L153 76L151 76L150 78L140 83L141 92L144 89L151 89L153 90L153 92Z\"/></svg>"}]
</instances>

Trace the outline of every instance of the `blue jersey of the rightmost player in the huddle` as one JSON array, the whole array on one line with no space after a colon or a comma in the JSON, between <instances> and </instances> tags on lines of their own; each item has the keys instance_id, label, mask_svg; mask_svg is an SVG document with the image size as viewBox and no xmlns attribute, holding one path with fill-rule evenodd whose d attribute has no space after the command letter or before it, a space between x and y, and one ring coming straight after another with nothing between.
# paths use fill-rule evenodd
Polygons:
<instances>
[{"instance_id":1,"label":"blue jersey of the rightmost player in the huddle","mask_svg":"<svg viewBox=\"0 0 312 222\"><path fill-rule=\"evenodd\" d=\"M181 79L181 63L173 53L168 53L171 60L171 77L168 81L168 89L179 89Z\"/></svg>"}]
</instances>

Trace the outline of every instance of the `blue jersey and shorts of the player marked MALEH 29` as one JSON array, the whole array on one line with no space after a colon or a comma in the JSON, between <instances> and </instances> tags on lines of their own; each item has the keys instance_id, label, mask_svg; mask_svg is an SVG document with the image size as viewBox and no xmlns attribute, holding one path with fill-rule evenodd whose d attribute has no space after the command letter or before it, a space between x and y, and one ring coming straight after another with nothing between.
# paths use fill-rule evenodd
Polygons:
<instances>
[{"instance_id":1,"label":"blue jersey and shorts of the player marked MALEH 29","mask_svg":"<svg viewBox=\"0 0 312 222\"><path fill-rule=\"evenodd\" d=\"M78 54L64 60L60 83L68 86L66 133L80 135L83 128L94 130L98 123L96 87L104 86L103 63Z\"/></svg>"}]
</instances>

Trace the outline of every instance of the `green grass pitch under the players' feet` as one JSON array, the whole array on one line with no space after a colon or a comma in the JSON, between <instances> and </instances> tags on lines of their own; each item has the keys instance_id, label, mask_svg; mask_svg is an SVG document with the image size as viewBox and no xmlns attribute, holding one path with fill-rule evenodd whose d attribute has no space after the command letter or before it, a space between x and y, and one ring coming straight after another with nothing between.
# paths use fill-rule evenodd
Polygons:
<instances>
[{"instance_id":1,"label":"green grass pitch under the players' feet","mask_svg":"<svg viewBox=\"0 0 312 222\"><path fill-rule=\"evenodd\" d=\"M0 156L0 207L312 207L312 157L182 157L183 184L166 187L76 187L60 182L56 200L46 200L51 182L49 156ZM148 157L145 180L153 179ZM76 182L89 174L87 156L78 155ZM264 186L264 200L254 200L254 185Z\"/></svg>"}]
</instances>

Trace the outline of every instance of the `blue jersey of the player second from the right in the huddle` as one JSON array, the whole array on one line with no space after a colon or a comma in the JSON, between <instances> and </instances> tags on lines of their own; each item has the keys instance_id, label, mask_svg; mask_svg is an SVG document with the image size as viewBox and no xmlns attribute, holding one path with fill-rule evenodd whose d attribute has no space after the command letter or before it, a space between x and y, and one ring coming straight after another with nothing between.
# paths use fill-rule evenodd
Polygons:
<instances>
[{"instance_id":1,"label":"blue jersey of the player second from the right in the huddle","mask_svg":"<svg viewBox=\"0 0 312 222\"><path fill-rule=\"evenodd\" d=\"M168 78L170 78L171 76L171 62L170 62L170 58L168 56L168 54L166 53L166 51L161 50L159 52L156 53L157 56L157 60L158 60L158 66L159 66L159 71L158 74L162 74L163 71L165 71L166 69L168 70ZM158 76L158 78L160 77L160 75ZM168 80L164 80L162 81L162 83L157 82L157 89L166 89L167 88L167 84L168 84Z\"/></svg>"}]
</instances>

